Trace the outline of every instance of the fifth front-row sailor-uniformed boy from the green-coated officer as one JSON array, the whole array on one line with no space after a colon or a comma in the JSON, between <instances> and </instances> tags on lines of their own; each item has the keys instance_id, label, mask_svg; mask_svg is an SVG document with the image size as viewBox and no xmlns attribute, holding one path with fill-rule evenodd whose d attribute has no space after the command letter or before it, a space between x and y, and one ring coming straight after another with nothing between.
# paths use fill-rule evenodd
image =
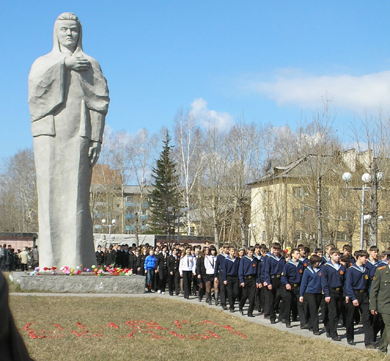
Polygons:
<instances>
[{"instance_id":1,"label":"fifth front-row sailor-uniformed boy from the green-coated officer","mask_svg":"<svg viewBox=\"0 0 390 361\"><path fill-rule=\"evenodd\" d=\"M275 309L279 306L281 288L284 285L280 282L283 266L286 263L284 257L280 255L280 244L275 242L272 244L273 254L268 255L264 265L264 284L267 286L268 292L268 306L270 310L270 321L272 324L276 323ZM279 319L282 321L284 312L284 299L280 302Z\"/></svg>"}]
</instances>

